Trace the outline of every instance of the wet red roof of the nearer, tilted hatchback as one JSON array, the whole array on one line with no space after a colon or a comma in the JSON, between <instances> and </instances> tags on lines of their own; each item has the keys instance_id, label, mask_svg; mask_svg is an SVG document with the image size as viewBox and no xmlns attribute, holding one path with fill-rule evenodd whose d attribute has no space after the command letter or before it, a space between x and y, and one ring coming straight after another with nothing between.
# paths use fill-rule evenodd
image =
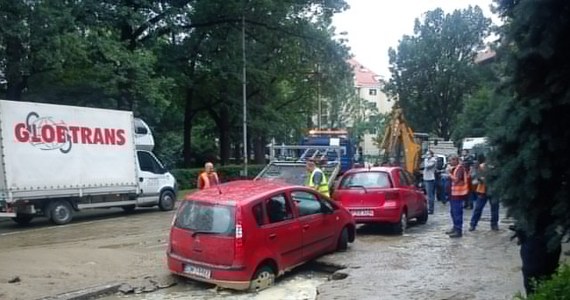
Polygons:
<instances>
[{"instance_id":1,"label":"wet red roof of the nearer, tilted hatchback","mask_svg":"<svg viewBox=\"0 0 570 300\"><path fill-rule=\"evenodd\" d=\"M291 187L291 185L282 181L236 180L221 184L218 187L190 193L186 195L185 199L214 202L249 201Z\"/></svg>"}]
</instances>

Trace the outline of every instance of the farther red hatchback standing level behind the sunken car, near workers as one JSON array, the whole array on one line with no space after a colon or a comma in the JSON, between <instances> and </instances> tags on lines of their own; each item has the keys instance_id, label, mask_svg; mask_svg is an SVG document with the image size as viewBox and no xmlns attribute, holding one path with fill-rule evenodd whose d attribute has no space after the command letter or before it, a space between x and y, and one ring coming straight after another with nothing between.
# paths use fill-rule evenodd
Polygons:
<instances>
[{"instance_id":1,"label":"farther red hatchback standing level behind the sunken car, near workers","mask_svg":"<svg viewBox=\"0 0 570 300\"><path fill-rule=\"evenodd\" d=\"M410 219L420 224L428 219L426 195L400 167L351 169L340 178L332 198L352 213L356 223L389 223L398 233Z\"/></svg>"}]
</instances>

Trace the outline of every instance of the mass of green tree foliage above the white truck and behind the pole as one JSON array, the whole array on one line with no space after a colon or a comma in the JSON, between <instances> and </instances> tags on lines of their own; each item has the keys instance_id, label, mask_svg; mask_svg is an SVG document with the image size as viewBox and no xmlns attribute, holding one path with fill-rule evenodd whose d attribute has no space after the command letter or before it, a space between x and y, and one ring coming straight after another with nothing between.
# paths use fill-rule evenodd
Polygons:
<instances>
[{"instance_id":1,"label":"mass of green tree foliage above the white truck and behind the pole","mask_svg":"<svg viewBox=\"0 0 570 300\"><path fill-rule=\"evenodd\" d=\"M0 98L131 110L153 129L167 165L227 163L243 157L244 18L248 148L262 160L271 137L298 140L319 98L341 122L352 75L331 22L346 8L344 0L3 0Z\"/></svg>"}]
</instances>

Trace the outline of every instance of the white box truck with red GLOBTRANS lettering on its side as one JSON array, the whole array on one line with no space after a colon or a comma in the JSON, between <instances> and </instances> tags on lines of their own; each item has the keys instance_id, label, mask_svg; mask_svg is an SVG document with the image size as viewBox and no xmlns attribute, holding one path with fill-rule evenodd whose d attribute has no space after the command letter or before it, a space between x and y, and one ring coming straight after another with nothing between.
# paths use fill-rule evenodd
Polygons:
<instances>
[{"instance_id":1,"label":"white box truck with red GLOBTRANS lettering on its side","mask_svg":"<svg viewBox=\"0 0 570 300\"><path fill-rule=\"evenodd\" d=\"M88 208L172 210L176 180L132 112L0 100L0 217L61 225Z\"/></svg>"}]
</instances>

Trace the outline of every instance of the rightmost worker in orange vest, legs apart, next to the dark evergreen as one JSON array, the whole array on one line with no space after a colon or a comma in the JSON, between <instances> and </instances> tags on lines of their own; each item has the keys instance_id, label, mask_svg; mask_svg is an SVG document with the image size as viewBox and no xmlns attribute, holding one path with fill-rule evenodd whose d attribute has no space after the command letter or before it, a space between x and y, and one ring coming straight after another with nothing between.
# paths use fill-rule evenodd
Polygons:
<instances>
[{"instance_id":1,"label":"rightmost worker in orange vest, legs apart, next to the dark evergreen","mask_svg":"<svg viewBox=\"0 0 570 300\"><path fill-rule=\"evenodd\" d=\"M481 219L481 213L483 208L489 201L491 205L491 230L499 230L499 201L493 199L487 190L487 184L485 183L485 172L487 171L487 165L485 163L485 156L480 154L478 159L479 168L477 171L477 178L474 178L477 182L477 188L475 192L477 193L477 202L475 203L475 209L473 210L473 215L471 215L471 223L469 226L469 231L475 230L477 228L477 223Z\"/></svg>"}]
</instances>

